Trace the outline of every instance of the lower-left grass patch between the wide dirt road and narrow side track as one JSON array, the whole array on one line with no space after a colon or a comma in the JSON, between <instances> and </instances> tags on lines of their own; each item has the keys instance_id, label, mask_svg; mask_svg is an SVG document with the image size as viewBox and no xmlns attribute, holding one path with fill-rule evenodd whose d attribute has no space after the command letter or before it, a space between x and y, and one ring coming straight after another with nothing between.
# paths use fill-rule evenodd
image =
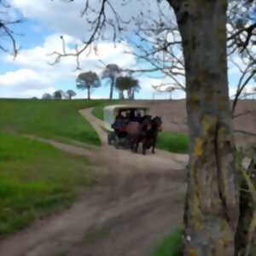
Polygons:
<instances>
[{"instance_id":1,"label":"lower-left grass patch between the wide dirt road and narrow side track","mask_svg":"<svg viewBox=\"0 0 256 256\"><path fill-rule=\"evenodd\" d=\"M94 182L88 160L0 131L0 237L69 206Z\"/></svg>"}]
</instances>

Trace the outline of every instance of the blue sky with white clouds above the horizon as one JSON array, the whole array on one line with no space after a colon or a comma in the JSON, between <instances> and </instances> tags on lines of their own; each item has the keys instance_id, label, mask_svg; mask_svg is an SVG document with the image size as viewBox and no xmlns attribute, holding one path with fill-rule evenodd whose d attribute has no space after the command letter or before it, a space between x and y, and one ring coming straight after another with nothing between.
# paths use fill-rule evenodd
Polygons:
<instances>
[{"instance_id":1,"label":"blue sky with white clouds above the horizon","mask_svg":"<svg viewBox=\"0 0 256 256\"><path fill-rule=\"evenodd\" d=\"M9 0L15 8L9 13L11 19L22 17L25 21L14 27L16 39L19 42L19 55L0 52L0 96L15 98L41 98L44 93L52 94L55 90L75 90L77 98L84 98L86 92L77 90L75 79L80 72L93 71L98 75L102 73L102 63L116 63L123 68L136 68L137 60L133 55L125 52L131 51L132 46L127 42L119 42L113 45L111 40L99 41L97 54L81 56L82 71L77 71L76 61L72 57L64 58L55 66L49 65L54 61L50 55L55 50L61 50L61 39L63 35L68 48L74 44L80 44L90 36L89 26L81 17L80 12L84 7L84 0L73 3L65 3L64 0ZM98 3L96 1L96 3ZM135 15L136 10L155 9L154 6L143 5L137 7L137 1L131 1L129 8L122 12L122 18L129 20ZM120 9L121 6L117 6ZM154 15L154 14L153 14ZM130 29L132 30L132 24ZM131 30L125 31L128 37L132 37ZM107 31L108 35L111 31ZM70 49L72 50L72 49ZM230 65L229 82L230 95L235 92L235 85L240 73L234 65ZM152 75L140 75L139 79L142 90L137 93L136 98L169 98L169 94L156 94L152 85L168 82L168 79L157 79ZM249 84L253 87L254 84ZM107 81L102 87L93 90L93 98L108 98L109 87ZM118 92L114 93L118 96ZM183 98L184 93L177 91L172 98Z\"/></svg>"}]
</instances>

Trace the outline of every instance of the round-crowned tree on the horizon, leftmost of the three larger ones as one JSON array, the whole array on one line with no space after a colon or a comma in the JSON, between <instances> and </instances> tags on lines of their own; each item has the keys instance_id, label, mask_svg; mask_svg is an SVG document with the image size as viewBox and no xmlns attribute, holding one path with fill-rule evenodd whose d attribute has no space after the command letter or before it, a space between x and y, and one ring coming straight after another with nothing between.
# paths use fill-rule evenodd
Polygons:
<instances>
[{"instance_id":1,"label":"round-crowned tree on the horizon, leftmost of the three larger ones","mask_svg":"<svg viewBox=\"0 0 256 256\"><path fill-rule=\"evenodd\" d=\"M87 90L87 99L90 100L90 90L101 86L101 80L94 72L80 73L76 79L79 90Z\"/></svg>"}]
</instances>

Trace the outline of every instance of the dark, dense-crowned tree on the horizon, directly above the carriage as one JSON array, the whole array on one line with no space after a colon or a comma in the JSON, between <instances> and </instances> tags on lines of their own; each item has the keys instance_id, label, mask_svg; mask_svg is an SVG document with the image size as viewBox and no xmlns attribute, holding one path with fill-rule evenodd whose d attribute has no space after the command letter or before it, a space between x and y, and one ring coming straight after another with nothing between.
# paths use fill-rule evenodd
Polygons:
<instances>
[{"instance_id":1,"label":"dark, dense-crowned tree on the horizon, directly above the carriage","mask_svg":"<svg viewBox=\"0 0 256 256\"><path fill-rule=\"evenodd\" d=\"M116 79L116 88L123 96L122 98L124 98L125 90L127 90L128 96L134 96L134 92L139 88L139 83L137 79L133 79L130 76L118 77Z\"/></svg>"}]
</instances>

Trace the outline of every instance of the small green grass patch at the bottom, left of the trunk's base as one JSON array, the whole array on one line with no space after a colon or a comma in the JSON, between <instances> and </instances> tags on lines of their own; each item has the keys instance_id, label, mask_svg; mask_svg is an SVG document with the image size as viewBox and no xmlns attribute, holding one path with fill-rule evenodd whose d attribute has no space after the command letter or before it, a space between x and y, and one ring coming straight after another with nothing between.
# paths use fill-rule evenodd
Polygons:
<instances>
[{"instance_id":1,"label":"small green grass patch at the bottom, left of the trunk's base","mask_svg":"<svg viewBox=\"0 0 256 256\"><path fill-rule=\"evenodd\" d=\"M178 229L154 247L150 256L181 256L182 255L182 230Z\"/></svg>"}]
</instances>

